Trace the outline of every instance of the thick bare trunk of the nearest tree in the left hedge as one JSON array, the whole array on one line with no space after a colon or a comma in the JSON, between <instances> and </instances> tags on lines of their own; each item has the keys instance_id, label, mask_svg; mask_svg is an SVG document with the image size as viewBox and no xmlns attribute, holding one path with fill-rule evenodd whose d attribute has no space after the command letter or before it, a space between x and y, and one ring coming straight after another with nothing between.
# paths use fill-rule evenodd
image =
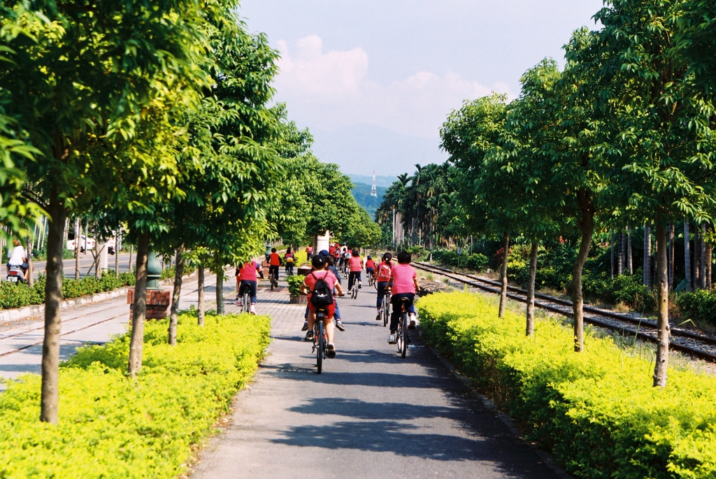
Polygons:
<instances>
[{"instance_id":1,"label":"thick bare trunk of the nearest tree in the left hedge","mask_svg":"<svg viewBox=\"0 0 716 479\"><path fill-rule=\"evenodd\" d=\"M59 405L59 339L62 330L62 250L64 249L64 200L57 186L49 193L47 233L47 279L45 282L45 324L42 342L42 393L40 420L57 424Z\"/></svg>"}]
</instances>

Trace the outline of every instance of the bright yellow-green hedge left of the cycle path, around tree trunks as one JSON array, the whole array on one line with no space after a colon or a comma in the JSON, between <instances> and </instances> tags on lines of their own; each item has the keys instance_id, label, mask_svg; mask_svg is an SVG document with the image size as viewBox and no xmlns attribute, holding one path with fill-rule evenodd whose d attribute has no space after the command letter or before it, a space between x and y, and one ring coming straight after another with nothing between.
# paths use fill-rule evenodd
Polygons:
<instances>
[{"instance_id":1,"label":"bright yellow-green hedge left of the cycle path, around tree trunks","mask_svg":"<svg viewBox=\"0 0 716 479\"><path fill-rule=\"evenodd\" d=\"M269 343L267 316L181 314L146 325L144 365L125 376L130 335L85 347L60 369L59 424L38 420L35 374L0 395L0 478L174 478L211 434Z\"/></svg>"}]
</instances>

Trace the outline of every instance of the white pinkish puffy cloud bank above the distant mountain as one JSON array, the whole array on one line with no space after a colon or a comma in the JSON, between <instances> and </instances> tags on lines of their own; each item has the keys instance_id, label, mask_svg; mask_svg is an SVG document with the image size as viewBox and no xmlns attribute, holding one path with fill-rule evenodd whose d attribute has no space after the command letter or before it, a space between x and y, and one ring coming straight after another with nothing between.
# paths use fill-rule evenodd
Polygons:
<instances>
[{"instance_id":1,"label":"white pinkish puffy cloud bank above the distant mountain","mask_svg":"<svg viewBox=\"0 0 716 479\"><path fill-rule=\"evenodd\" d=\"M295 52L286 42L277 43L277 100L288 102L291 117L309 127L335 130L360 123L434 138L448 113L463 100L493 91L509 93L505 84L487 87L452 71L416 72L381 84L369 79L368 55L362 48L324 52L317 35L300 39Z\"/></svg>"}]
</instances>

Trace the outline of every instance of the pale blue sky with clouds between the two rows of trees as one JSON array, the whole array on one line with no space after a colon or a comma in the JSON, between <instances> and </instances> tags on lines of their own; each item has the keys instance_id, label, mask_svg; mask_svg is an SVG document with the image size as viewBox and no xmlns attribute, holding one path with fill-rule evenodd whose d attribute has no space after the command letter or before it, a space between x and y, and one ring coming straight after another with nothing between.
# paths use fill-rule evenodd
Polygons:
<instances>
[{"instance_id":1,"label":"pale blue sky with clouds between the two rows of trees","mask_svg":"<svg viewBox=\"0 0 716 479\"><path fill-rule=\"evenodd\" d=\"M281 54L275 101L344 173L442 163L440 126L465 100L504 93L602 0L243 0L250 32Z\"/></svg>"}]
</instances>

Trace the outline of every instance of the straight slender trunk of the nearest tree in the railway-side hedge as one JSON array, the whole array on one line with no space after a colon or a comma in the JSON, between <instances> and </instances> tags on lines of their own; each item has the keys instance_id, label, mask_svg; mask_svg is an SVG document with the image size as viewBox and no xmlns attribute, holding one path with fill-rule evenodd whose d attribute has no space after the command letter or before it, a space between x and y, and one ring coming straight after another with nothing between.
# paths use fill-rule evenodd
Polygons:
<instances>
[{"instance_id":1,"label":"straight slender trunk of the nearest tree in the railway-side hedge","mask_svg":"<svg viewBox=\"0 0 716 479\"><path fill-rule=\"evenodd\" d=\"M686 224L686 223L684 223ZM688 226L684 226L688 228ZM667 236L664 225L657 218L657 269L659 271L659 304L657 327L657 363L654 367L654 387L666 387L669 364L669 289L667 279Z\"/></svg>"}]
</instances>

